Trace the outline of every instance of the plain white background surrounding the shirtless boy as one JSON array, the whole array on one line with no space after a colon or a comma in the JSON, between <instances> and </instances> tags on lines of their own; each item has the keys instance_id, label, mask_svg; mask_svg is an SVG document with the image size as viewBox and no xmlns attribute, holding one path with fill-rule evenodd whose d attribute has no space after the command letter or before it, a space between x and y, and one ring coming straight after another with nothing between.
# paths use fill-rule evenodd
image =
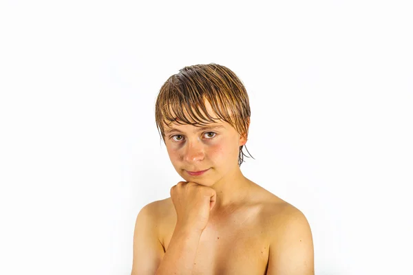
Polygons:
<instances>
[{"instance_id":1,"label":"plain white background surrounding the shirtless boy","mask_svg":"<svg viewBox=\"0 0 413 275\"><path fill-rule=\"evenodd\" d=\"M242 172L304 212L316 274L413 274L409 2L1 1L0 274L130 274L136 215L182 180L156 96L211 62L250 97Z\"/></svg>"}]
</instances>

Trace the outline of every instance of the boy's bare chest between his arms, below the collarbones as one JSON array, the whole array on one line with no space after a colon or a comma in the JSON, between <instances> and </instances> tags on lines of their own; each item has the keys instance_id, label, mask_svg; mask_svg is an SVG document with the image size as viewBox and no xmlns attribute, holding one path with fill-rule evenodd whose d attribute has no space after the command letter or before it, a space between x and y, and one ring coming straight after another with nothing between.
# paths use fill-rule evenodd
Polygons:
<instances>
[{"instance_id":1,"label":"boy's bare chest between his arms, below the collarbones","mask_svg":"<svg viewBox=\"0 0 413 275\"><path fill-rule=\"evenodd\" d=\"M161 240L169 247L176 221ZM268 264L268 232L256 211L211 220L200 236L193 275L264 275Z\"/></svg>"}]
</instances>

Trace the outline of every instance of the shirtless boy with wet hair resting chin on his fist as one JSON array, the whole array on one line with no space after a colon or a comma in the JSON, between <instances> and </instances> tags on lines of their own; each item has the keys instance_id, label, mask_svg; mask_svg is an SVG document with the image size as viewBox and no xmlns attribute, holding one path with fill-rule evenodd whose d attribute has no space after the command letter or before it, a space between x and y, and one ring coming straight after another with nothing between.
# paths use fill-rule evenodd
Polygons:
<instances>
[{"instance_id":1,"label":"shirtless boy with wet hair resting chin on his fist","mask_svg":"<svg viewBox=\"0 0 413 275\"><path fill-rule=\"evenodd\" d=\"M227 67L184 67L162 85L156 124L185 181L140 210L131 275L314 274L304 214L242 175L249 123Z\"/></svg>"}]
</instances>

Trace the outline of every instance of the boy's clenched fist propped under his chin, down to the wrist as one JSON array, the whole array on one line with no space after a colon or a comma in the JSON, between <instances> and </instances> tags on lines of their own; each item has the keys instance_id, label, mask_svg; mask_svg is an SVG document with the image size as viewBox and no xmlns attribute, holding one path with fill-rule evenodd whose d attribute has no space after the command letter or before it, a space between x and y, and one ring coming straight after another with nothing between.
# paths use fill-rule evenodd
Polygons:
<instances>
[{"instance_id":1,"label":"boy's clenched fist propped under his chin, down to the wrist","mask_svg":"<svg viewBox=\"0 0 413 275\"><path fill-rule=\"evenodd\" d=\"M178 216L176 225L202 232L207 227L216 198L213 188L195 182L180 181L172 186L171 199Z\"/></svg>"}]
</instances>

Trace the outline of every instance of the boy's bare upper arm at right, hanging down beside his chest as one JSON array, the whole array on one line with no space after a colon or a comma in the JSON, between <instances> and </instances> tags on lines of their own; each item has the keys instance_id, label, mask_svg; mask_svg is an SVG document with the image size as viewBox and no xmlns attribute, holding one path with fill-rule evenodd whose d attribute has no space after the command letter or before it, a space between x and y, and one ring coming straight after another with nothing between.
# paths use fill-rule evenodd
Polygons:
<instances>
[{"instance_id":1,"label":"boy's bare upper arm at right, hanging down beside his chest","mask_svg":"<svg viewBox=\"0 0 413 275\"><path fill-rule=\"evenodd\" d=\"M273 225L267 275L313 275L314 248L304 214L291 207Z\"/></svg>"}]
</instances>

